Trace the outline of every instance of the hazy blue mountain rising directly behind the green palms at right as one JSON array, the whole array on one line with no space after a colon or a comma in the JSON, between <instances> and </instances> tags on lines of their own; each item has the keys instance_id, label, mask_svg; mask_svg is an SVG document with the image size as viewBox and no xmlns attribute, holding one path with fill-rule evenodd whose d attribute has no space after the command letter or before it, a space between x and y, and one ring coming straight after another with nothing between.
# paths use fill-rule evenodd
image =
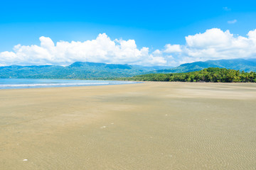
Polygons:
<instances>
[{"instance_id":1,"label":"hazy blue mountain rising directly behind the green palms at right","mask_svg":"<svg viewBox=\"0 0 256 170\"><path fill-rule=\"evenodd\" d=\"M226 69L236 69L245 72L256 72L256 59L234 59L234 60L208 60L206 62L192 62L181 64L172 69L155 70L151 73L179 73L194 72L208 67L219 67Z\"/></svg>"}]
</instances>

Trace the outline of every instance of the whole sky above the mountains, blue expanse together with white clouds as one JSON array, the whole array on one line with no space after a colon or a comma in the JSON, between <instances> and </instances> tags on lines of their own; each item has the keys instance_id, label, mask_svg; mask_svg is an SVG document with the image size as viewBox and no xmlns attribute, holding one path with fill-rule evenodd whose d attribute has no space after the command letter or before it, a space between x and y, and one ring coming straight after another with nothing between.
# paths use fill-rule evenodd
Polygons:
<instances>
[{"instance_id":1,"label":"whole sky above the mountains, blue expanse together with white clouds","mask_svg":"<svg viewBox=\"0 0 256 170\"><path fill-rule=\"evenodd\" d=\"M0 66L256 57L256 1L0 1Z\"/></svg>"}]
</instances>

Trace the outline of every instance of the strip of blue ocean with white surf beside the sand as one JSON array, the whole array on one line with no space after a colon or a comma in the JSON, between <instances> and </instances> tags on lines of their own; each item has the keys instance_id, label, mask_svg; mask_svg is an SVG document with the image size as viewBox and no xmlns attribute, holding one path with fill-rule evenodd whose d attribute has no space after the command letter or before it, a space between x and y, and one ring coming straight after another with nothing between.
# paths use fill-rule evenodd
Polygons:
<instances>
[{"instance_id":1,"label":"strip of blue ocean with white surf beside the sand","mask_svg":"<svg viewBox=\"0 0 256 170\"><path fill-rule=\"evenodd\" d=\"M28 89L64 86L104 86L135 84L135 81L67 80L67 79L0 79L0 89Z\"/></svg>"}]
</instances>

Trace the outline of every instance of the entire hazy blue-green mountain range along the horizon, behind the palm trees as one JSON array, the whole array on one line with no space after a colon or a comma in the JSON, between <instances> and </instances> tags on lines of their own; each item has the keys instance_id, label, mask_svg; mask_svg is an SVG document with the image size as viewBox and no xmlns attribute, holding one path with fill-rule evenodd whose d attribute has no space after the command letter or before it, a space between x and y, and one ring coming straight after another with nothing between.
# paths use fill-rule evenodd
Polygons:
<instances>
[{"instance_id":1,"label":"entire hazy blue-green mountain range along the horizon, behind the palm trees","mask_svg":"<svg viewBox=\"0 0 256 170\"><path fill-rule=\"evenodd\" d=\"M194 72L208 67L237 69L256 72L256 59L209 60L192 62L178 67L144 67L129 64L105 64L96 62L74 62L69 66L40 65L0 67L1 79L107 79L114 77L133 77L148 73Z\"/></svg>"}]
</instances>

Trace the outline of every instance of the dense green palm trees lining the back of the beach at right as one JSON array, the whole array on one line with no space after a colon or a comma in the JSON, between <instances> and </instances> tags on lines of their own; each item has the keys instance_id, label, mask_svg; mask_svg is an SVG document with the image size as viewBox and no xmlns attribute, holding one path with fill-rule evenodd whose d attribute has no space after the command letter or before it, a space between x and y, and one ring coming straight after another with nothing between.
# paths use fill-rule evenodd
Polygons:
<instances>
[{"instance_id":1,"label":"dense green palm trees lining the back of the beach at right","mask_svg":"<svg viewBox=\"0 0 256 170\"><path fill-rule=\"evenodd\" d=\"M186 81L186 82L256 82L255 72L240 72L235 69L210 67L196 72L172 74L144 74L135 77L119 78L129 81Z\"/></svg>"}]
</instances>

